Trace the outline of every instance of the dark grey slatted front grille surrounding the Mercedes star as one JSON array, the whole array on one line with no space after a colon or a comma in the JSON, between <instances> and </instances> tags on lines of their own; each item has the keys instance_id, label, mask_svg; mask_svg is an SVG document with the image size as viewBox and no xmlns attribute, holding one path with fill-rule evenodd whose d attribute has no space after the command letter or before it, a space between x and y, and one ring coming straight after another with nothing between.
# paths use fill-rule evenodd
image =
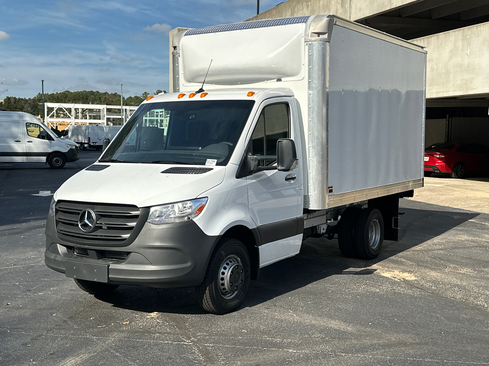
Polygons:
<instances>
[{"instance_id":1,"label":"dark grey slatted front grille surrounding the Mercedes star","mask_svg":"<svg viewBox=\"0 0 489 366\"><path fill-rule=\"evenodd\" d=\"M86 233L78 226L80 213L91 209L96 216L95 230ZM142 209L144 210L144 209ZM147 217L136 206L100 203L56 203L55 218L58 237L68 243L125 246L133 242ZM138 230L134 231L137 226ZM132 235L133 234L133 235Z\"/></svg>"}]
</instances>

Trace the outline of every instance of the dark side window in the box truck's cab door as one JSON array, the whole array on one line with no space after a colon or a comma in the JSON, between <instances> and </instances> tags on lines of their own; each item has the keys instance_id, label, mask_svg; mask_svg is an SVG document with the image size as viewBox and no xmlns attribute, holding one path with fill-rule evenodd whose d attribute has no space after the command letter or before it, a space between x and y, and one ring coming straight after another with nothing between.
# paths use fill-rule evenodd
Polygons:
<instances>
[{"instance_id":1,"label":"dark side window in the box truck's cab door","mask_svg":"<svg viewBox=\"0 0 489 366\"><path fill-rule=\"evenodd\" d=\"M290 137L289 105L266 106L256 123L251 146L253 155L277 155L277 140Z\"/></svg>"}]
</instances>

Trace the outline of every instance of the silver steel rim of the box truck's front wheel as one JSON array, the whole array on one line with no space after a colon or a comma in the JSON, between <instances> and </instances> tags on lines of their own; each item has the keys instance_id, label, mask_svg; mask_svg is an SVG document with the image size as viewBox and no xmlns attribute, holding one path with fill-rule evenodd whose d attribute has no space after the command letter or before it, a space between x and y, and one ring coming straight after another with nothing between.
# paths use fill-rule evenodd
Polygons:
<instances>
[{"instance_id":1,"label":"silver steel rim of the box truck's front wheel","mask_svg":"<svg viewBox=\"0 0 489 366\"><path fill-rule=\"evenodd\" d=\"M235 297L244 284L244 269L236 255L228 256L219 267L219 291L224 299Z\"/></svg>"}]
</instances>

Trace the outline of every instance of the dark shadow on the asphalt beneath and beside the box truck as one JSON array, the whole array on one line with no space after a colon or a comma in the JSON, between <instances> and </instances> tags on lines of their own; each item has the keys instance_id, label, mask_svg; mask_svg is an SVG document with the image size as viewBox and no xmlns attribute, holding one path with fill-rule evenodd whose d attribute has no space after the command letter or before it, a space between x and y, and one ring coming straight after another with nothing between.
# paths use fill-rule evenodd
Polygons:
<instances>
[{"instance_id":1,"label":"dark shadow on the asphalt beneath and beside the box truck","mask_svg":"<svg viewBox=\"0 0 489 366\"><path fill-rule=\"evenodd\" d=\"M400 208L400 211L405 212L400 220L400 241L384 241L377 259L365 261L345 258L339 251L336 239L308 238L303 242L298 255L260 270L260 277L251 282L241 308L263 304L333 275L372 275L376 272L376 269L369 268L372 265L443 235L479 215L413 208ZM120 286L110 297L97 298L116 307L147 313L205 313L197 304L193 288Z\"/></svg>"}]
</instances>

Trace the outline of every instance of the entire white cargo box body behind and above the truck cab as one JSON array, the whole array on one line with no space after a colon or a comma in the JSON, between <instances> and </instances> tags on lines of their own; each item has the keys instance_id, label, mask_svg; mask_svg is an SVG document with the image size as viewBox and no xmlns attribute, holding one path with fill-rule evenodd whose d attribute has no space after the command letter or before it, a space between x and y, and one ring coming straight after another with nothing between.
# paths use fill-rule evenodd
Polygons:
<instances>
[{"instance_id":1,"label":"entire white cargo box body behind and above the truck cab","mask_svg":"<svg viewBox=\"0 0 489 366\"><path fill-rule=\"evenodd\" d=\"M304 207L422 187L426 52L336 16L190 29L174 91L288 87L302 114ZM306 168L307 167L307 168Z\"/></svg>"}]
</instances>

